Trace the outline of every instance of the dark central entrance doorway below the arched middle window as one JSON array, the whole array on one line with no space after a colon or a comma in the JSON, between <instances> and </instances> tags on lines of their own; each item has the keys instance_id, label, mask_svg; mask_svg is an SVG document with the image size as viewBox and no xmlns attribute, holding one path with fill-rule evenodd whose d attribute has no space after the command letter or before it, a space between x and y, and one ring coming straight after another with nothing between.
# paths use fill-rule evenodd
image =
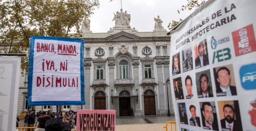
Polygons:
<instances>
[{"instance_id":1,"label":"dark central entrance doorway below the arched middle window","mask_svg":"<svg viewBox=\"0 0 256 131\"><path fill-rule=\"evenodd\" d=\"M130 116L131 98L119 97L120 116Z\"/></svg>"}]
</instances>

